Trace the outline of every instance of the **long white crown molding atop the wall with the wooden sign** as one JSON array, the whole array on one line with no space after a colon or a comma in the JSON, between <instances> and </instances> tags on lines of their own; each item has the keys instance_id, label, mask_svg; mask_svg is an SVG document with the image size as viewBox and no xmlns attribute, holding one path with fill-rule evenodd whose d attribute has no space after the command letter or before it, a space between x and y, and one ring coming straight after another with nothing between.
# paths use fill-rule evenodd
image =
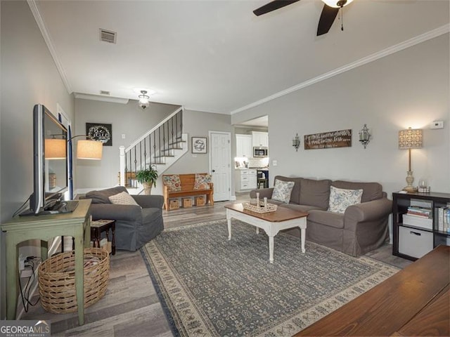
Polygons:
<instances>
[{"instance_id":1,"label":"long white crown molding atop the wall with the wooden sign","mask_svg":"<svg viewBox=\"0 0 450 337\"><path fill-rule=\"evenodd\" d=\"M230 114L237 114L238 112L243 112L252 107L257 107L258 105L262 105L271 100L275 100L276 98L280 98L284 95L288 95L289 93L293 93L294 91L300 90L302 88L306 88L307 86L311 86L325 79L329 79L330 77L335 77L336 75L342 74L343 72L348 72L356 67L361 67L361 65L366 65L367 63L373 62L380 58L384 58L387 55L391 55L393 53L397 53L398 51L403 51L406 48L411 46L416 46L416 44L421 44L422 42L428 41L430 39L434 39L435 37L439 37L443 34L450 32L450 25L444 25L442 27L438 27L436 29L430 30L430 32L426 32L424 34L420 34L417 37L413 37L412 39L401 42L400 44L396 44L389 48L383 49L382 51L378 51L377 53L373 53L371 55L366 56L365 58L361 58L356 60L355 62L349 63L348 65L344 65L342 67L336 68L335 70L331 70L330 72L326 72L325 74L321 74L318 77L314 77L313 79L309 79L295 86L291 86L283 91L279 91L278 93L274 93L274 95L270 95L262 100L257 100L254 103L250 103L249 105L245 105L244 107L240 107L236 110L230 112Z\"/></svg>"}]
</instances>

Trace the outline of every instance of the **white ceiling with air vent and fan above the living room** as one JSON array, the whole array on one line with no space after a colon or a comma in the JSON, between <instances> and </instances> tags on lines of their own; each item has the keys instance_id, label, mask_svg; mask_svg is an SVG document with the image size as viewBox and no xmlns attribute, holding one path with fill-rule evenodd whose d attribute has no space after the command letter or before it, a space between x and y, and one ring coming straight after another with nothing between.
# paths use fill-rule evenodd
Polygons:
<instances>
[{"instance_id":1,"label":"white ceiling with air vent and fan above the living room","mask_svg":"<svg viewBox=\"0 0 450 337\"><path fill-rule=\"evenodd\" d=\"M149 88L154 102L207 112L242 110L449 31L448 0L355 0L344 8L345 30L337 18L321 37L320 0L252 13L267 2L29 0L71 93L137 99L134 88ZM100 28L117 32L117 44L99 41Z\"/></svg>"}]
</instances>

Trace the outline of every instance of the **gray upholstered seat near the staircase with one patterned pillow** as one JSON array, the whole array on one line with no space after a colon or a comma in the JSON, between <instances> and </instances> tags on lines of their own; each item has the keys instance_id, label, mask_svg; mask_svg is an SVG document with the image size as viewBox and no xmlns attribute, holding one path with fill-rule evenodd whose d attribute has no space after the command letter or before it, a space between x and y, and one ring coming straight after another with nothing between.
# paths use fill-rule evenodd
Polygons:
<instances>
[{"instance_id":1,"label":"gray upholstered seat near the staircase with one patterned pillow","mask_svg":"<svg viewBox=\"0 0 450 337\"><path fill-rule=\"evenodd\" d=\"M123 186L87 192L79 199L92 199L92 220L113 219L116 249L136 251L164 230L162 195L131 195L139 204L111 204L110 196L127 192Z\"/></svg>"}]
</instances>

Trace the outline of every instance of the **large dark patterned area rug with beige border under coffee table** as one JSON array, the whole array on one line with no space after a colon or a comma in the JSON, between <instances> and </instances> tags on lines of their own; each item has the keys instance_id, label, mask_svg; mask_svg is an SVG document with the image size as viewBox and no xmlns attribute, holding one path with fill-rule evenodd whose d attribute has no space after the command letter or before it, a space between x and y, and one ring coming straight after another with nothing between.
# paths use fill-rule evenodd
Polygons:
<instances>
[{"instance_id":1,"label":"large dark patterned area rug with beige border under coffee table","mask_svg":"<svg viewBox=\"0 0 450 337\"><path fill-rule=\"evenodd\" d=\"M226 220L165 230L141 249L175 336L292 336L398 269Z\"/></svg>"}]
</instances>

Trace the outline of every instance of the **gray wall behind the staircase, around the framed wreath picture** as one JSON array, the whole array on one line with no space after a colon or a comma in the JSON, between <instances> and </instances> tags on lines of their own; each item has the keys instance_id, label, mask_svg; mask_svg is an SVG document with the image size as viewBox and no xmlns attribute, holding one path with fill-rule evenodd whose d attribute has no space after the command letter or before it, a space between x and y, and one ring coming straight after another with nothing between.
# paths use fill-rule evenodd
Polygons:
<instances>
[{"instance_id":1,"label":"gray wall behind the staircase, around the framed wreath picture","mask_svg":"<svg viewBox=\"0 0 450 337\"><path fill-rule=\"evenodd\" d=\"M75 159L75 191L117 185L120 170L119 147L127 147L178 108L179 105L150 103L146 110L142 110L136 100L120 104L75 99L75 134L86 134L86 123L113 124L113 146L103 146L101 161ZM125 139L122 139L122 134Z\"/></svg>"}]
</instances>

